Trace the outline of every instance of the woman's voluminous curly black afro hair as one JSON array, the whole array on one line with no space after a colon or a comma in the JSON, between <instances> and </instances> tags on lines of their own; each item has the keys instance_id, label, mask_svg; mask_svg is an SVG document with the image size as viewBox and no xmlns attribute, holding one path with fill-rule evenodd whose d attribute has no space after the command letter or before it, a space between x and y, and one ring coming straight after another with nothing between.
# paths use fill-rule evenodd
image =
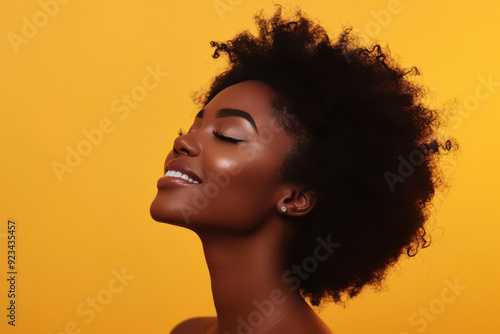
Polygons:
<instances>
[{"instance_id":1,"label":"woman's voluminous curly black afro hair","mask_svg":"<svg viewBox=\"0 0 500 334\"><path fill-rule=\"evenodd\" d=\"M435 138L441 115L424 105L425 88L407 78L418 69L402 68L387 48L359 46L351 27L332 42L300 9L286 19L278 5L255 21L258 36L245 30L210 42L213 58L226 55L229 67L193 99L205 106L246 80L277 94L273 110L296 146L276 181L310 187L318 198L309 214L289 218L296 231L287 261L302 263L318 236L331 236L341 246L299 292L313 306L343 304L367 285L380 287L401 255L429 245L424 225L444 183L440 149L458 144Z\"/></svg>"}]
</instances>

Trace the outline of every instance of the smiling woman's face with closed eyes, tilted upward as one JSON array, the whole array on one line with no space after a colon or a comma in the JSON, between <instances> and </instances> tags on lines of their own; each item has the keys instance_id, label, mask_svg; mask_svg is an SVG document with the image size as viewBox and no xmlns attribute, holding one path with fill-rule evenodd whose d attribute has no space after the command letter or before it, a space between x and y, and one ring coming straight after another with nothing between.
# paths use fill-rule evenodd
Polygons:
<instances>
[{"instance_id":1,"label":"smiling woman's face with closed eyes, tilted upward","mask_svg":"<svg viewBox=\"0 0 500 334\"><path fill-rule=\"evenodd\" d=\"M277 210L277 188L266 186L293 142L276 122L272 96L264 83L244 81L221 91L198 113L165 161L164 172L179 171L188 180L175 175L158 180L153 219L193 230L243 232Z\"/></svg>"}]
</instances>

